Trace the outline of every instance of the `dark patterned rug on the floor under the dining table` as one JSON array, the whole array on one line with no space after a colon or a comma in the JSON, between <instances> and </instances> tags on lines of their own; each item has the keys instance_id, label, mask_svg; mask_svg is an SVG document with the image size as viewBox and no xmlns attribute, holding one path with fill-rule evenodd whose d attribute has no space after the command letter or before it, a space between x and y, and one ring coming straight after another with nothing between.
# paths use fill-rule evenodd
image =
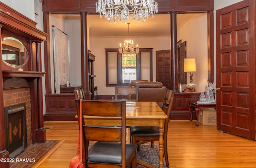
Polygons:
<instances>
[{"instance_id":1,"label":"dark patterned rug on the floor under the dining table","mask_svg":"<svg viewBox=\"0 0 256 168\"><path fill-rule=\"evenodd\" d=\"M151 148L150 144L140 145L140 150L137 151L137 159L158 167L158 164L159 164L158 146L155 144L154 148ZM166 168L166 163L164 159L163 159L163 162L164 162L164 168ZM137 168L144 168L144 167L138 165Z\"/></svg>"}]
</instances>

